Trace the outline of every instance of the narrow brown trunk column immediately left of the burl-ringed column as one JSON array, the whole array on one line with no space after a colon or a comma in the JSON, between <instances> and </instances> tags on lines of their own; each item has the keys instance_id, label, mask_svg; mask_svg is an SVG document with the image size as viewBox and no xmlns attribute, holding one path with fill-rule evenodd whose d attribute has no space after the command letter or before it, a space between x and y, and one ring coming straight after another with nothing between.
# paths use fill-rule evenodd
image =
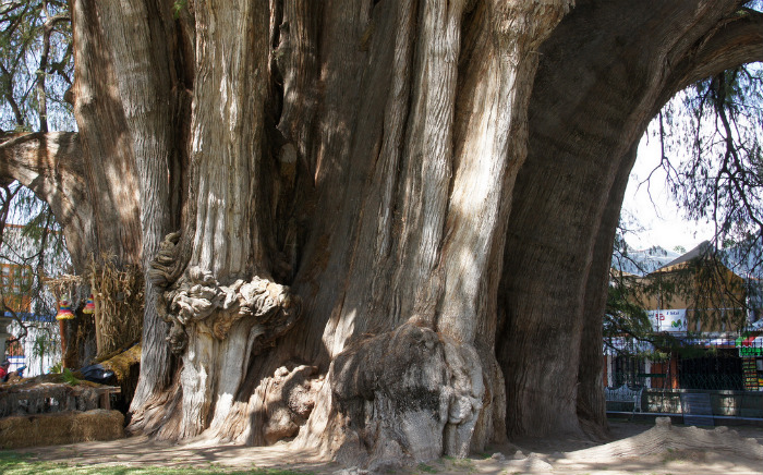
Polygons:
<instances>
[{"instance_id":1,"label":"narrow brown trunk column immediately left of the burl-ringed column","mask_svg":"<svg viewBox=\"0 0 763 475\"><path fill-rule=\"evenodd\" d=\"M180 141L187 135L185 82L181 63L185 51L184 38L175 34L171 13L157 2L131 1L119 5L110 2L82 2L75 13L97 15L102 35L99 46L110 58L112 75L109 85L116 87L116 97L124 115L125 139L130 141L132 160L140 183L142 256L144 269L159 251L164 236L180 226L177 203L182 197L179 186L184 185L182 170L187 161ZM74 22L88 19L74 16ZM105 33L108 34L105 34ZM95 36L95 35L92 35ZM87 52L83 52L86 56ZM172 194L175 196L172 196ZM185 193L185 192L183 192ZM165 341L167 325L159 318L155 303L157 292L146 281L142 383L134 398L134 407L142 407L154 392L170 382L173 360Z\"/></svg>"}]
</instances>

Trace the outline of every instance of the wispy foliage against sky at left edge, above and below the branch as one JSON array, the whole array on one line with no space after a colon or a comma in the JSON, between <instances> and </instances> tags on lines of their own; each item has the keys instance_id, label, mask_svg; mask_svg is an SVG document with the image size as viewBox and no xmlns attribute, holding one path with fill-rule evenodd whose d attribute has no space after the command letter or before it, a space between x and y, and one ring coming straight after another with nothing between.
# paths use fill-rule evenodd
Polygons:
<instances>
[{"instance_id":1,"label":"wispy foliage against sky at left edge, above and below the branch","mask_svg":"<svg viewBox=\"0 0 763 475\"><path fill-rule=\"evenodd\" d=\"M75 129L72 107L63 99L74 69L68 8L62 0L0 5L0 142L12 138L3 131ZM25 228L19 233L9 223ZM34 277L14 292L31 299L31 312L55 312L43 280L69 263L63 235L50 207L17 182L0 184L0 260L32 269ZM25 324L19 322L25 333Z\"/></svg>"}]
</instances>

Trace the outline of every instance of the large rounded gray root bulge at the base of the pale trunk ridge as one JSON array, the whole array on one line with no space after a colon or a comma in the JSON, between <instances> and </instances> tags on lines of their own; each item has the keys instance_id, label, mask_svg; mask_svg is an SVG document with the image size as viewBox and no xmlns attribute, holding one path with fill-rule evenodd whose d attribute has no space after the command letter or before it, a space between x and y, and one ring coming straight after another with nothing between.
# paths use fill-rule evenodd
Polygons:
<instances>
[{"instance_id":1,"label":"large rounded gray root bulge at the base of the pale trunk ridge","mask_svg":"<svg viewBox=\"0 0 763 475\"><path fill-rule=\"evenodd\" d=\"M405 324L335 358L330 390L299 443L323 444L340 463L373 471L465 456L482 410L482 374L470 345ZM322 440L311 440L316 435Z\"/></svg>"}]
</instances>

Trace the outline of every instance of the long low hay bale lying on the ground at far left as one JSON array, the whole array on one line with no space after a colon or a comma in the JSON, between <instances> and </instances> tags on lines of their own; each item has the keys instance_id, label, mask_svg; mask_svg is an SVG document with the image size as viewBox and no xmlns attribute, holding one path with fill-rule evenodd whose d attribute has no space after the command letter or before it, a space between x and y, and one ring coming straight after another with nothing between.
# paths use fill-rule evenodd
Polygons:
<instances>
[{"instance_id":1,"label":"long low hay bale lying on the ground at far left","mask_svg":"<svg viewBox=\"0 0 763 475\"><path fill-rule=\"evenodd\" d=\"M124 415L121 412L100 409L11 416L0 419L0 447L20 449L114 440L124 437L123 427Z\"/></svg>"}]
</instances>

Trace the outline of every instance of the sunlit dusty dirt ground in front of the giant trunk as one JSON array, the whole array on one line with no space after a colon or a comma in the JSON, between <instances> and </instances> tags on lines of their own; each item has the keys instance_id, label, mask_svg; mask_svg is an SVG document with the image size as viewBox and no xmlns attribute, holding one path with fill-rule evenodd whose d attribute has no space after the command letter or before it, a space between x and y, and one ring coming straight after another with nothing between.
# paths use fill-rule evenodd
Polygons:
<instances>
[{"instance_id":1,"label":"sunlit dusty dirt ground in front of the giant trunk","mask_svg":"<svg viewBox=\"0 0 763 475\"><path fill-rule=\"evenodd\" d=\"M525 439L469 459L444 458L398 474L759 474L763 475L763 428L703 429L671 425L610 422L613 440L595 443L580 439ZM288 443L267 448L156 442L134 437L20 450L36 460L78 465L168 467L289 468L315 474L359 475L316 453L295 451Z\"/></svg>"}]
</instances>

